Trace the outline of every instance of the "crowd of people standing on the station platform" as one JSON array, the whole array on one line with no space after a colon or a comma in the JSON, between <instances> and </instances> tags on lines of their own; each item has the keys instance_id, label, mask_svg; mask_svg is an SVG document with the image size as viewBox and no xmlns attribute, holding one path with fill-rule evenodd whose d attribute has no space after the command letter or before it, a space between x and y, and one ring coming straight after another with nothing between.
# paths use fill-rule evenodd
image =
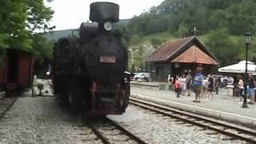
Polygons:
<instances>
[{"instance_id":1,"label":"crowd of people standing on the station platform","mask_svg":"<svg viewBox=\"0 0 256 144\"><path fill-rule=\"evenodd\" d=\"M255 97L255 79L252 74L249 74L248 85L245 89L244 79L242 77L235 80L233 77L218 77L212 76L211 74L203 75L200 70L197 70L194 78L191 74L182 74L182 76L176 75L173 78L170 74L168 75L167 82L170 91L174 91L177 94L177 98L180 95L191 95L191 90L194 90L195 98L193 102L201 102L201 98L214 99L214 94L218 94L218 87L226 87L228 84L234 86L234 81L237 82L238 96L240 103L243 101L244 96L250 98L249 104L254 104Z\"/></svg>"}]
</instances>

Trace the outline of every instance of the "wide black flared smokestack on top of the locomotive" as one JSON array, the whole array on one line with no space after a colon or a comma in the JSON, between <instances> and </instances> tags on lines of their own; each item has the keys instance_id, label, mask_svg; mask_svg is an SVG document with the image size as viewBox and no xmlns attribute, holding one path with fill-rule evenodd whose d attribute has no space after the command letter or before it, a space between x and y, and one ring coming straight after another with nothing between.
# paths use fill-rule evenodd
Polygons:
<instances>
[{"instance_id":1,"label":"wide black flared smokestack on top of the locomotive","mask_svg":"<svg viewBox=\"0 0 256 144\"><path fill-rule=\"evenodd\" d=\"M94 2L90 4L90 21L118 22L119 21L119 6L111 2Z\"/></svg>"}]
</instances>

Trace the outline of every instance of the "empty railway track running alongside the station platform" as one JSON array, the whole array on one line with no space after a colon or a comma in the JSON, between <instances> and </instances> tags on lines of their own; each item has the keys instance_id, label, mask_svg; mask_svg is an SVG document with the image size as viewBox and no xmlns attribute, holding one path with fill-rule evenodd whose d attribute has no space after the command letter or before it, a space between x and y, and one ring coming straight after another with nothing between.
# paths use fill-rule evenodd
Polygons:
<instances>
[{"instance_id":1,"label":"empty railway track running alongside the station platform","mask_svg":"<svg viewBox=\"0 0 256 144\"><path fill-rule=\"evenodd\" d=\"M190 114L182 110L160 106L152 102L146 102L137 98L130 98L130 104L142 107L143 109L154 111L155 113L177 118L186 123L203 127L204 130L214 130L216 134L221 133L234 139L243 140L249 143L256 143L256 131L241 126L233 126L225 122L216 121L212 118L206 118L197 114Z\"/></svg>"}]
</instances>

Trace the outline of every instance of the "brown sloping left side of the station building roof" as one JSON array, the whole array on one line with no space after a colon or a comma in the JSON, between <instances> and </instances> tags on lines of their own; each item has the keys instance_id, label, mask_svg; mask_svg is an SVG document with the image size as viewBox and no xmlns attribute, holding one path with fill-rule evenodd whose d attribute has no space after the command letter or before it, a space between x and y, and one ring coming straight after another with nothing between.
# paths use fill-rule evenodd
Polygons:
<instances>
[{"instance_id":1,"label":"brown sloping left side of the station building roof","mask_svg":"<svg viewBox=\"0 0 256 144\"><path fill-rule=\"evenodd\" d=\"M180 49L186 42L189 42L193 37L182 38L175 41L167 42L165 45L161 46L153 54L145 59L146 62L149 61L161 61L166 60L171 54L178 49Z\"/></svg>"}]
</instances>

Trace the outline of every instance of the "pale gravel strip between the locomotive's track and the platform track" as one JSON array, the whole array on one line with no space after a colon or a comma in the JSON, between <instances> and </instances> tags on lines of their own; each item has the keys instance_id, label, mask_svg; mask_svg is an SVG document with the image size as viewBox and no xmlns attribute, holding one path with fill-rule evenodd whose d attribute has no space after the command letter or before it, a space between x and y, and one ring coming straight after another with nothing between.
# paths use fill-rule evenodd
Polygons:
<instances>
[{"instance_id":1,"label":"pale gravel strip between the locomotive's track and the platform track","mask_svg":"<svg viewBox=\"0 0 256 144\"><path fill-rule=\"evenodd\" d=\"M139 110L141 112L138 112ZM214 134L215 131L213 130L202 130L201 127L182 123L175 119L170 119L169 117L162 117L161 114L142 110L137 106L129 106L127 113L134 113L139 116L132 119L129 115L133 114L128 114L129 118L125 118L125 114L119 118L114 116L110 118L114 119L116 122L122 123L122 126L125 126L126 129L137 134L140 138L149 143L246 143L239 140L230 141L228 140L229 137L222 134Z\"/></svg>"}]
</instances>

